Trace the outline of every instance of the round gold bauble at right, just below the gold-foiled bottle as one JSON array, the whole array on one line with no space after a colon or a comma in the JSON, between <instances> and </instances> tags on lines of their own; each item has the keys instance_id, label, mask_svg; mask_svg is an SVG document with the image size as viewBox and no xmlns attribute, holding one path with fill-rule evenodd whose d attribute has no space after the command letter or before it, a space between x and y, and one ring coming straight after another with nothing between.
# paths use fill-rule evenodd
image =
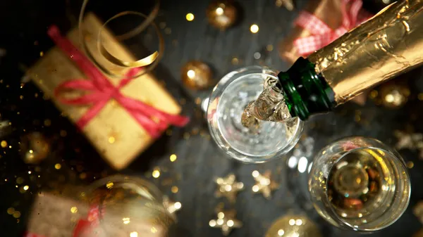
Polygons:
<instances>
[{"instance_id":1,"label":"round gold bauble at right, just below the gold-foiled bottle","mask_svg":"<svg viewBox=\"0 0 423 237\"><path fill-rule=\"evenodd\" d=\"M401 108L408 101L410 88L404 83L388 82L382 84L377 91L372 91L370 96L378 105L393 109Z\"/></svg>"}]
</instances>

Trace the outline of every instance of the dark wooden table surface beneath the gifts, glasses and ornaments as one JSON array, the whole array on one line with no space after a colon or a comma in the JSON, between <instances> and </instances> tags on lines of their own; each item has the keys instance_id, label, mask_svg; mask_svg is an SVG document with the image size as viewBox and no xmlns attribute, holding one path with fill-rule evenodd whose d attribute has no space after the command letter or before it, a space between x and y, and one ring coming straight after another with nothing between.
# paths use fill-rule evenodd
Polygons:
<instances>
[{"instance_id":1,"label":"dark wooden table surface beneath the gifts, glasses and ornaments","mask_svg":"<svg viewBox=\"0 0 423 237\"><path fill-rule=\"evenodd\" d=\"M324 236L358 236L357 233L341 231L326 224L310 208L310 205L303 202L301 195L304 192L299 191L298 187L306 186L306 178L286 165L286 160L293 155L292 153L288 153L279 160L261 165L243 165L228 159L210 138L202 111L195 105L196 98L204 98L209 91L191 91L180 83L180 68L190 60L201 60L209 64L214 70L216 80L231 70L247 65L262 64L276 70L288 69L289 65L278 57L277 44L290 32L293 20L306 2L305 0L295 1L296 10L290 12L286 8L277 8L272 0L240 1L239 5L242 9L240 23L225 32L216 30L207 23L206 8L209 1L162 2L157 23L161 25L162 30L168 32L164 34L166 54L155 72L157 77L164 79L175 96L182 98L180 102L185 106L184 112L192 117L192 122L183 129L172 129L170 136L166 135L159 139L152 148L140 155L122 173L147 177L171 199L182 203L183 208L177 214L178 225L173 235L184 237L221 236L219 229L209 227L209 220L216 218L214 210L219 203L226 203L227 207L231 207L231 205L228 205L226 200L214 196L216 191L214 179L233 173L238 181L244 183L245 191L239 193L237 201L233 205L237 211L237 219L243 222L243 227L235 229L231 236L264 236L266 229L274 220L293 212L307 214L309 218L314 219L321 227ZM62 25L65 26L72 25L72 21L68 17L64 17L63 9L69 5L79 6L80 3L56 2L55 6L51 6L51 4L48 1L42 1L42 3L38 3L38 1L37 3L35 1L16 2L14 9L23 8L23 14L11 15L11 13L4 12L8 16L9 24L6 24L4 20L2 20L2 24L6 24L4 26L6 32L12 33L10 37L7 34L2 34L2 39L6 39L4 44L9 47L7 49L10 59L6 58L1 61L0 65L4 68L4 72L0 79L9 79L8 82L11 82L12 86L6 88L4 84L0 84L2 87L0 113L3 115L2 119L6 117L16 120L18 127L31 127L31 124L34 124L32 127L35 130L45 132L51 137L55 137L54 134L63 127L68 131L66 139L56 141L57 151L49 156L49 160L40 165L44 178L39 181L40 183L49 184L52 179L57 179L66 172L76 172L74 167L78 165L83 166L81 172L87 173L89 178L75 181L66 175L63 182L89 183L96 179L95 174L101 172L112 174L114 171L107 167L98 158L98 155L95 155L94 150L90 148L83 136L75 132L75 127L66 118L58 115L59 112L50 102L38 100L32 101L29 105L29 102L18 102L20 95L18 81L23 74L18 68L18 63L22 68L22 65L30 65L37 58L35 54L39 53L39 49L35 49L32 44L35 39L41 42L44 49L48 49L51 42L45 37L42 38L43 29L56 22L63 22ZM61 10L49 11L47 10L49 6ZM195 20L192 22L185 20L185 15L189 12L195 15ZM63 18L67 20L63 20ZM250 32L252 24L259 26L257 34ZM274 46L273 51L265 50L268 45ZM254 53L256 52L261 53L262 57L255 59ZM238 64L232 63L233 58L238 58ZM413 95L422 92L423 79L421 77L423 74L421 70L415 70L409 75L412 77L410 88ZM37 91L31 85L28 85L26 90L23 92L24 94ZM417 132L421 132L423 127L419 121L422 118L422 113L418 108L421 108L422 102L412 98L404 108L398 110L388 110L369 101L364 106L348 103L336 109L334 113L313 117L306 123L305 128L305 137L314 141L314 146L311 148L312 153L316 153L331 141L343 136L371 136L393 146L397 141L393 136L394 129L405 129L411 124ZM14 105L18 108L27 108L25 119L14 115L16 113ZM44 112L39 115L37 111L44 107ZM357 120L357 115L360 115L360 121ZM45 117L52 118L53 123L49 128L33 122L35 120L42 121ZM18 130L16 129L14 135L11 135L11 141L18 142L19 136L23 134ZM75 147L78 147L77 151L75 151ZM82 151L79 151L81 149ZM412 236L422 227L412 214L412 207L423 196L423 188L419 186L423 181L422 172L420 172L423 162L418 160L415 152L405 150L401 153L405 160L415 163L415 166L410 169L412 175L410 207L398 222L383 231L372 233L370 236ZM176 162L169 161L171 154L178 156ZM308 158L312 159L312 155L309 155ZM63 160L60 174L51 168L51 165L58 160ZM1 164L3 166L1 167L2 180L0 181L2 185L0 226L4 233L2 236L20 236L25 230L25 218L28 217L27 210L32 195L19 193L14 182L3 180L14 180L16 177L25 175L28 166L23 164L17 152L3 155L0 162L4 162ZM161 169L161 176L157 179L151 177L154 167ZM274 191L271 200L266 200L260 194L252 193L251 187L255 184L252 178L253 170L259 172L270 170L272 179L280 184L279 188ZM36 184L32 185L37 188ZM171 192L172 186L178 187L177 193ZM16 205L16 203L18 204ZM18 206L17 208L22 212L19 223L16 218L6 213L6 209L13 205Z\"/></svg>"}]
</instances>

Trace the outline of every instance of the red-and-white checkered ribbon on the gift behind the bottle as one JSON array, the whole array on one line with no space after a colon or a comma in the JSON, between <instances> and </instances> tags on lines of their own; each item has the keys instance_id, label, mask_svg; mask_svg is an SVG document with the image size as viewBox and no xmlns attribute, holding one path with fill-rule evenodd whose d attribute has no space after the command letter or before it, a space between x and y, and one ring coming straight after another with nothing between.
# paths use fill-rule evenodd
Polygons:
<instances>
[{"instance_id":1,"label":"red-and-white checkered ribbon on the gift behind the bottle","mask_svg":"<svg viewBox=\"0 0 423 237\"><path fill-rule=\"evenodd\" d=\"M341 1L342 25L336 30L331 29L329 25L307 11L300 13L297 20L295 20L295 25L303 27L312 34L309 37L294 40L293 44L301 56L308 56L310 53L323 48L348 32L348 30L372 17L370 13L362 10L362 0Z\"/></svg>"}]
</instances>

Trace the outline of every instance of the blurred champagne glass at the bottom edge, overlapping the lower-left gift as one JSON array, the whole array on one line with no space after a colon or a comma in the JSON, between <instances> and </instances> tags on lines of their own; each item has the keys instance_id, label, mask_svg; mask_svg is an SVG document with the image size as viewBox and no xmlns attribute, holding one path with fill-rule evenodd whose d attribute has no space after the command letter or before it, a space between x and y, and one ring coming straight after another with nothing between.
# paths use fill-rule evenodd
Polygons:
<instances>
[{"instance_id":1,"label":"blurred champagne glass at the bottom edge, overlapping the lower-left gift","mask_svg":"<svg viewBox=\"0 0 423 237\"><path fill-rule=\"evenodd\" d=\"M176 217L159 189L145 179L114 175L95 181L83 193L90 224L77 225L78 237L163 237Z\"/></svg>"}]
</instances>

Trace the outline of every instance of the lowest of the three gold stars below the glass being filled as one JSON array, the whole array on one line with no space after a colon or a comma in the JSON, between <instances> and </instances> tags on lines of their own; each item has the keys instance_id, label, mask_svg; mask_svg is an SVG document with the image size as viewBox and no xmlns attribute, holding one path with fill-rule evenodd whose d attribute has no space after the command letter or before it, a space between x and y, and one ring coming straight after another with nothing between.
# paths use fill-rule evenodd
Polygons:
<instances>
[{"instance_id":1,"label":"lowest of the three gold stars below the glass being filled","mask_svg":"<svg viewBox=\"0 0 423 237\"><path fill-rule=\"evenodd\" d=\"M223 236L228 236L232 229L238 229L243 226L243 222L235 219L235 216L235 210L218 211L217 219L210 220L209 226L221 229Z\"/></svg>"}]
</instances>

